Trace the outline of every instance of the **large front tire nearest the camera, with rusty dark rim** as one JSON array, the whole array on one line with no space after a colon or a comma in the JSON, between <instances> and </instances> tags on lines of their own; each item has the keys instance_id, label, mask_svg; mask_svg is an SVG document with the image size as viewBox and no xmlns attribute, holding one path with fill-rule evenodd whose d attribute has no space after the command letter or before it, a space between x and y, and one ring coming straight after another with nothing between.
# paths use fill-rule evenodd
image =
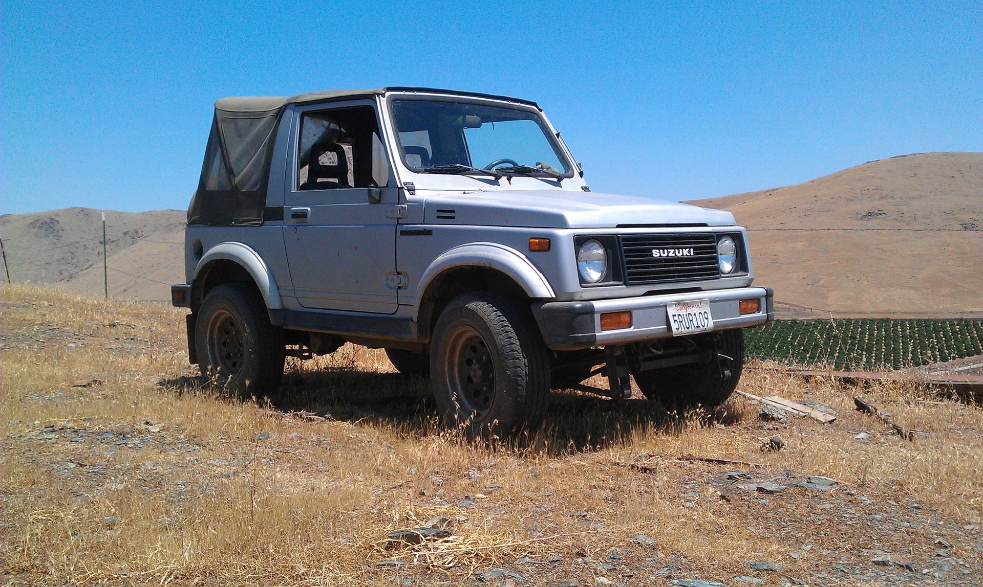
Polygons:
<instances>
[{"instance_id":1,"label":"large front tire nearest the camera, with rusty dark rim","mask_svg":"<svg viewBox=\"0 0 983 587\"><path fill-rule=\"evenodd\" d=\"M443 421L469 436L537 426L549 402L549 354L530 310L493 292L452 299L434 328L431 387Z\"/></svg>"}]
</instances>

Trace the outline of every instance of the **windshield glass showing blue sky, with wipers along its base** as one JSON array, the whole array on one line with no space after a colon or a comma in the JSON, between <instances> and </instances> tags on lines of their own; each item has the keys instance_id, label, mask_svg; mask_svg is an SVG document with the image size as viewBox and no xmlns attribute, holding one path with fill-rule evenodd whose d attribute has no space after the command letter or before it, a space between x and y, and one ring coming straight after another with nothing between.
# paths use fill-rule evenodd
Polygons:
<instances>
[{"instance_id":1,"label":"windshield glass showing blue sky, with wipers along its base","mask_svg":"<svg viewBox=\"0 0 983 587\"><path fill-rule=\"evenodd\" d=\"M403 161L418 173L571 177L535 112L443 100L392 101Z\"/></svg>"}]
</instances>

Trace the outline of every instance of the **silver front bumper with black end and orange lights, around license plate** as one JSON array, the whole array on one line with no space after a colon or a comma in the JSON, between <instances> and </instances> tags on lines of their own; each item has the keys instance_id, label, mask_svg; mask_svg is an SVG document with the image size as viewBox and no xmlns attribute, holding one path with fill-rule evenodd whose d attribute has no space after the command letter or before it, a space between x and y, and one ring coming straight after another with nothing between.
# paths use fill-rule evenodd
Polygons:
<instances>
[{"instance_id":1,"label":"silver front bumper with black end and orange lights, around license plate","mask_svg":"<svg viewBox=\"0 0 983 587\"><path fill-rule=\"evenodd\" d=\"M759 311L741 314L741 299L760 300ZM533 314L547 347L553 350L626 345L672 336L666 306L671 301L709 299L714 331L760 326L775 319L771 288L735 288L709 292L666 293L594 301L547 301L533 305ZM632 325L601 330L601 314L630 310Z\"/></svg>"}]
</instances>

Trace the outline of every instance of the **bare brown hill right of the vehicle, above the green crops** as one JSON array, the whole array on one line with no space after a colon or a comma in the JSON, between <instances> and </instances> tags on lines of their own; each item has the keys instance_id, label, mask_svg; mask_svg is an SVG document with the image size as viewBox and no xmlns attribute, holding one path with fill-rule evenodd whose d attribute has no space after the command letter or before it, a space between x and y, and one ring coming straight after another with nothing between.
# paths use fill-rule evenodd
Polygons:
<instances>
[{"instance_id":1,"label":"bare brown hill right of the vehicle, above the green crops","mask_svg":"<svg viewBox=\"0 0 983 587\"><path fill-rule=\"evenodd\" d=\"M983 153L902 155L691 203L747 227L756 283L786 313L983 315Z\"/></svg>"}]
</instances>

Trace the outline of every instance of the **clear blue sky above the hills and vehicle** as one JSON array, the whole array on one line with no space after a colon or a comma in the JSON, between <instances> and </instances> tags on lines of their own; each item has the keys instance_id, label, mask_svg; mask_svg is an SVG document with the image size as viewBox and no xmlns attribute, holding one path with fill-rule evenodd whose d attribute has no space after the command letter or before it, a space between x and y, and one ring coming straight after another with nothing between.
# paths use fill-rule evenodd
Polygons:
<instances>
[{"instance_id":1,"label":"clear blue sky above the hills and vehicle","mask_svg":"<svg viewBox=\"0 0 983 587\"><path fill-rule=\"evenodd\" d=\"M0 213L187 208L227 95L425 85L537 100L595 191L796 184L983 151L978 2L3 0Z\"/></svg>"}]
</instances>

